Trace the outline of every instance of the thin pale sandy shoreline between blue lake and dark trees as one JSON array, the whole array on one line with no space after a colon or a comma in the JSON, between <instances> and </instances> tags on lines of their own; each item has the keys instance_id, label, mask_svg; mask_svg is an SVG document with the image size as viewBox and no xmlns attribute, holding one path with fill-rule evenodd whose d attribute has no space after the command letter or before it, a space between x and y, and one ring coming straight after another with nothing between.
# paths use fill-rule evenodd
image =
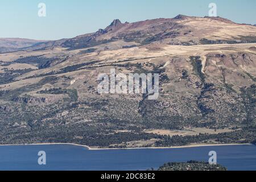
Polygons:
<instances>
[{"instance_id":1,"label":"thin pale sandy shoreline between blue lake and dark trees","mask_svg":"<svg viewBox=\"0 0 256 182\"><path fill-rule=\"evenodd\" d=\"M252 143L226 143L226 144L191 144L187 146L173 147L135 147L135 148L92 148L83 144L75 143L34 143L34 144L0 144L1 146L40 146L40 145L71 145L85 147L88 150L138 150L138 149L168 149L168 148L193 148L193 147L210 147L210 146L238 146L238 145L253 145Z\"/></svg>"}]
</instances>

